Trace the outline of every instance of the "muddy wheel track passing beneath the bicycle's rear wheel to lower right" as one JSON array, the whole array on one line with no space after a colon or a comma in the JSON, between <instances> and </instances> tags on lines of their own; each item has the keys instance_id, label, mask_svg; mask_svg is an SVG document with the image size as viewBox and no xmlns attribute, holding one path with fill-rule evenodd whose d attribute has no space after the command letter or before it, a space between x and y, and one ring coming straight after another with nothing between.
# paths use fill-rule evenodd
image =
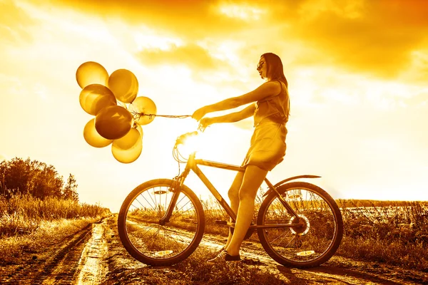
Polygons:
<instances>
[{"instance_id":1,"label":"muddy wheel track passing beneath the bicycle's rear wheel to lower right","mask_svg":"<svg viewBox=\"0 0 428 285\"><path fill-rule=\"evenodd\" d=\"M224 237L204 234L200 247L217 251L225 244ZM259 242L245 240L241 246L241 257L245 263L254 266L267 266L272 273L293 280L305 280L307 284L428 284L428 276L422 272L410 272L399 266L389 266L370 261L357 261L333 256L321 266L309 269L285 267L274 261ZM296 282L297 283L297 282Z\"/></svg>"}]
</instances>

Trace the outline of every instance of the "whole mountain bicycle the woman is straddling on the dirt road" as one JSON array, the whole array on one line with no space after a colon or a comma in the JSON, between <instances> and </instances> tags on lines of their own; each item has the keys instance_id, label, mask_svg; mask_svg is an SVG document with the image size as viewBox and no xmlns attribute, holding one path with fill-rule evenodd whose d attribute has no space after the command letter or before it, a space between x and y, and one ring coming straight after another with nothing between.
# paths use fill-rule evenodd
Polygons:
<instances>
[{"instance_id":1,"label":"whole mountain bicycle the woman is straddling on the dirt road","mask_svg":"<svg viewBox=\"0 0 428 285\"><path fill-rule=\"evenodd\" d=\"M198 247L205 230L205 213L200 199L184 185L192 170L225 209L232 222L224 222L233 230L236 215L229 204L203 174L198 165L224 170L245 171L244 167L200 160L193 151L186 160L178 145L198 132L180 135L173 147L173 156L185 170L170 179L143 182L123 201L118 214L118 234L129 254L144 264L163 266L183 261ZM284 266L308 268L319 266L340 245L343 235L342 214L335 200L320 187L308 182L292 181L317 178L298 175L268 186L257 214L257 230L265 252Z\"/></svg>"}]
</instances>

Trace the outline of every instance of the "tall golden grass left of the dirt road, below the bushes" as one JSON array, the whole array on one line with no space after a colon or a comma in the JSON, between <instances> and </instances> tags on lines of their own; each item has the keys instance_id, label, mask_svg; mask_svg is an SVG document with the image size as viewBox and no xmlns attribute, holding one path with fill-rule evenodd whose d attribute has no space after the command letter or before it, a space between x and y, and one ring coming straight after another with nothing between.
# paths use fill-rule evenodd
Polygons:
<instances>
[{"instance_id":1,"label":"tall golden grass left of the dirt road, below the bushes","mask_svg":"<svg viewBox=\"0 0 428 285\"><path fill-rule=\"evenodd\" d=\"M19 262L22 253L37 253L106 217L109 209L72 200L0 197L0 264Z\"/></svg>"}]
</instances>

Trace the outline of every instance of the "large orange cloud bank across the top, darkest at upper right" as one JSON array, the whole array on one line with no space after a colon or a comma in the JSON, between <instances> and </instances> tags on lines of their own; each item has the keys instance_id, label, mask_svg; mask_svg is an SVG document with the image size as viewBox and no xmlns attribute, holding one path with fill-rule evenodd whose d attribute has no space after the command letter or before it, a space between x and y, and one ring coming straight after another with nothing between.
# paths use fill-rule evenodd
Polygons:
<instances>
[{"instance_id":1,"label":"large orange cloud bank across the top, darkest at upper right","mask_svg":"<svg viewBox=\"0 0 428 285\"><path fill-rule=\"evenodd\" d=\"M40 5L43 2L38 0ZM428 3L425 1L56 1L104 21L121 19L132 26L168 31L186 44L204 39L239 39L240 56L265 47L287 56L295 65L343 66L348 71L396 78L412 60L412 51L427 46ZM294 46L294 48L292 47ZM196 46L150 57L186 56ZM291 51L291 52L290 52ZM275 52L275 51L274 51ZM291 58L292 56L292 58ZM175 58L170 58L175 61ZM203 58L208 68L215 63Z\"/></svg>"}]
</instances>

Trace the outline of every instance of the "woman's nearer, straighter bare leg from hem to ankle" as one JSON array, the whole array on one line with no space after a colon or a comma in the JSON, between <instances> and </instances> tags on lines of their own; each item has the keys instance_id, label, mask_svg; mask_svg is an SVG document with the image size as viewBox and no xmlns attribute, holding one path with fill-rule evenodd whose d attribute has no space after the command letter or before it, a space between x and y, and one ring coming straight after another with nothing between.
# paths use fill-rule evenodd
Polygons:
<instances>
[{"instance_id":1,"label":"woman's nearer, straighter bare leg from hem to ankle","mask_svg":"<svg viewBox=\"0 0 428 285\"><path fill-rule=\"evenodd\" d=\"M228 242L226 252L230 255L238 255L240 245L250 227L254 213L254 200L257 192L267 175L267 170L262 170L255 165L248 165L243 175L243 181L239 190L238 215L232 239Z\"/></svg>"}]
</instances>

